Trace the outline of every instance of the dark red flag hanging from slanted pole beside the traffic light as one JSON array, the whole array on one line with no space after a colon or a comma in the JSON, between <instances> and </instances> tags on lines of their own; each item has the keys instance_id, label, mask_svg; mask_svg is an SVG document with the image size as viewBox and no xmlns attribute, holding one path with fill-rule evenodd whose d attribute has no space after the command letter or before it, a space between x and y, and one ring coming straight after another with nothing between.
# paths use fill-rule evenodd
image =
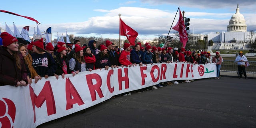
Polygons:
<instances>
[{"instance_id":1,"label":"dark red flag hanging from slanted pole beside the traffic light","mask_svg":"<svg viewBox=\"0 0 256 128\"><path fill-rule=\"evenodd\" d=\"M183 43L183 47L185 48L186 43L188 42L188 34L187 34L187 31L186 31L186 27L185 27L184 20L183 20L181 12L180 12L180 18L179 18L177 24L174 27L172 27L172 29L179 32L180 42Z\"/></svg>"}]
</instances>

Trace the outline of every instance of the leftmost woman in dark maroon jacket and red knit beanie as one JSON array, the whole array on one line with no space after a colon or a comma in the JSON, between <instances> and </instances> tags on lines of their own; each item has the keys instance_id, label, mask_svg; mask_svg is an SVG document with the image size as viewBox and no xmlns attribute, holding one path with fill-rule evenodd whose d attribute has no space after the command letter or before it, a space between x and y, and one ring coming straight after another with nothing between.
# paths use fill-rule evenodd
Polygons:
<instances>
[{"instance_id":1,"label":"leftmost woman in dark maroon jacket and red knit beanie","mask_svg":"<svg viewBox=\"0 0 256 128\"><path fill-rule=\"evenodd\" d=\"M26 86L27 71L18 54L18 40L8 32L2 32L0 46L0 86Z\"/></svg>"}]
</instances>

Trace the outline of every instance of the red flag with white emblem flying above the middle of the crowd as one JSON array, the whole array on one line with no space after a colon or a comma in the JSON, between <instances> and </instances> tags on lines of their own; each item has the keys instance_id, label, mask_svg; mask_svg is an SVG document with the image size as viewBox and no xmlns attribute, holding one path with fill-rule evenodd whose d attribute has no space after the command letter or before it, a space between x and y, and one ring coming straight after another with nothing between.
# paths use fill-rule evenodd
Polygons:
<instances>
[{"instance_id":1,"label":"red flag with white emblem flying above the middle of the crowd","mask_svg":"<svg viewBox=\"0 0 256 128\"><path fill-rule=\"evenodd\" d=\"M138 36L138 32L133 30L130 26L126 25L120 18L120 36L126 36L128 41L130 42L130 45L135 46L135 40Z\"/></svg>"}]
</instances>

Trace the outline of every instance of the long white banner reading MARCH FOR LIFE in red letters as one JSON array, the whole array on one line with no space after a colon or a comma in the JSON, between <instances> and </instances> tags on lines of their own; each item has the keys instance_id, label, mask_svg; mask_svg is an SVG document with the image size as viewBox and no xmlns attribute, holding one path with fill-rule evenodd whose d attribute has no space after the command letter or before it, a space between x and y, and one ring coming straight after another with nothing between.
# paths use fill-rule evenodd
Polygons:
<instances>
[{"instance_id":1,"label":"long white banner reading MARCH FOR LIFE in red letters","mask_svg":"<svg viewBox=\"0 0 256 128\"><path fill-rule=\"evenodd\" d=\"M0 127L31 128L112 96L159 82L216 77L216 65L158 63L42 78L26 87L0 86Z\"/></svg>"}]
</instances>

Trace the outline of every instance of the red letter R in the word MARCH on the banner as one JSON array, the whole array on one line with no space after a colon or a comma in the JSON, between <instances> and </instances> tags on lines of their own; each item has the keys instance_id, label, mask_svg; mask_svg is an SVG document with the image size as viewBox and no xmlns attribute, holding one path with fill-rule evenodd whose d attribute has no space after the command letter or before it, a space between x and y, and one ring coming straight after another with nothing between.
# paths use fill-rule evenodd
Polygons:
<instances>
[{"instance_id":1,"label":"red letter R in the word MARCH on the banner","mask_svg":"<svg viewBox=\"0 0 256 128\"><path fill-rule=\"evenodd\" d=\"M86 76L88 88L90 90L92 101L96 100L96 91L98 92L98 95L100 96L100 98L104 97L102 94L102 90L100 89L102 85L102 79L100 75L94 73L94 74L88 74L85 76ZM96 84L93 84L92 82L93 79L96 80Z\"/></svg>"}]
</instances>

